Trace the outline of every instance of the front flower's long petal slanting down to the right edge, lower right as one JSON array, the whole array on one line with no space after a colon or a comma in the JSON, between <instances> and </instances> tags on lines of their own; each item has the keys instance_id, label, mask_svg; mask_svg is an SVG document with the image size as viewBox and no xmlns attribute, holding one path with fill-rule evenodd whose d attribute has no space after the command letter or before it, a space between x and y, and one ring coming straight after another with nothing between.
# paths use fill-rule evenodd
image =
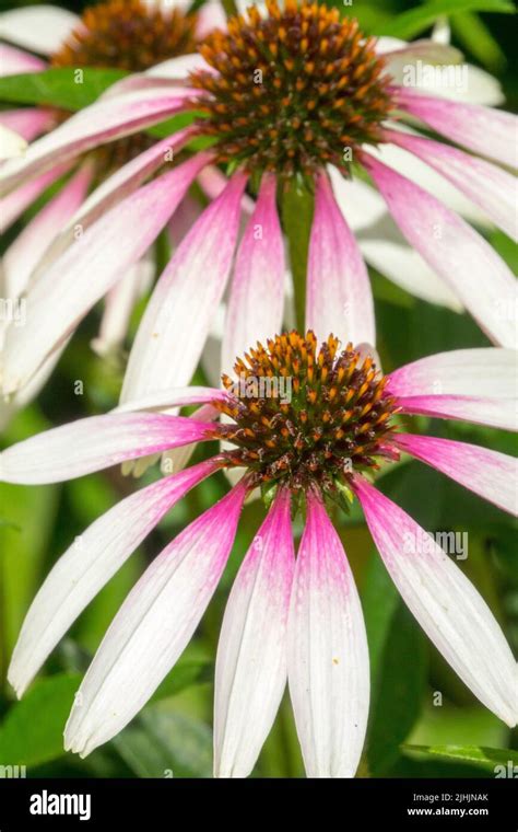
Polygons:
<instances>
[{"instance_id":1,"label":"front flower's long petal slanting down to the right edge, lower right","mask_svg":"<svg viewBox=\"0 0 518 832\"><path fill-rule=\"evenodd\" d=\"M516 725L517 666L483 598L399 506L362 477L355 489L390 577L428 638L490 710Z\"/></svg>"}]
</instances>

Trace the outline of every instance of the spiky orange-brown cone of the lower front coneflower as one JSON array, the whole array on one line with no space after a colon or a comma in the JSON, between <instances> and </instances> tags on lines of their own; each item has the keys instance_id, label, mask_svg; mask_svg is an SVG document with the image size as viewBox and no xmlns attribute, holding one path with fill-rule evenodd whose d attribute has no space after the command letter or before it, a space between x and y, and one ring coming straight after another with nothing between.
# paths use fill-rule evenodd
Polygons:
<instances>
[{"instance_id":1,"label":"spiky orange-brown cone of the lower front coneflower","mask_svg":"<svg viewBox=\"0 0 518 832\"><path fill-rule=\"evenodd\" d=\"M313 332L285 333L258 344L223 377L229 393L219 411L233 424L219 438L235 446L223 457L245 466L256 485L283 482L292 489L346 484L355 471L378 467L392 430L396 400L370 357L330 335L321 347Z\"/></svg>"}]
</instances>

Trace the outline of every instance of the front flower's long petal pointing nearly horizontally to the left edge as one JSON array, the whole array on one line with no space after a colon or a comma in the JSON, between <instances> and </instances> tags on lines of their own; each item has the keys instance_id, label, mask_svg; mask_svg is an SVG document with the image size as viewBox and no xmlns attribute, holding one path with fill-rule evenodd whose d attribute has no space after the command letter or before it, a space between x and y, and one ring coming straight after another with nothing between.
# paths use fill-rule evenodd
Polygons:
<instances>
[{"instance_id":1,"label":"front flower's long petal pointing nearly horizontally to the left edge","mask_svg":"<svg viewBox=\"0 0 518 832\"><path fill-rule=\"evenodd\" d=\"M209 439L196 419L153 413L89 416L13 444L0 453L4 483L59 483L123 460Z\"/></svg>"}]
</instances>

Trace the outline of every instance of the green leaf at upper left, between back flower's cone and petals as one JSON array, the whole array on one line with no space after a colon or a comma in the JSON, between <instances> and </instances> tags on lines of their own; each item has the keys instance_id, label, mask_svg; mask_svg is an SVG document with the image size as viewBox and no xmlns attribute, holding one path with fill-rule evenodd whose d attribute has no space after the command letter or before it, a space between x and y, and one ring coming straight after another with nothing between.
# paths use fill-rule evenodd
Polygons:
<instances>
[{"instance_id":1,"label":"green leaf at upper left, between back flower's cone and petals","mask_svg":"<svg viewBox=\"0 0 518 832\"><path fill-rule=\"evenodd\" d=\"M128 73L120 69L81 70L82 81L75 81L73 68L52 68L0 78L0 101L17 104L44 104L63 109L81 109L120 81Z\"/></svg>"}]
</instances>

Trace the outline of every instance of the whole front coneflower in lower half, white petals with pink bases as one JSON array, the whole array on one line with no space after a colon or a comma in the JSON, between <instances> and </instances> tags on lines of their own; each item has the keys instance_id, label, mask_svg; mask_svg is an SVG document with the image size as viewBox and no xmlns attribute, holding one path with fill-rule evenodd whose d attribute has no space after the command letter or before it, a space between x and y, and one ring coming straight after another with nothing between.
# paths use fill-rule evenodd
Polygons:
<instances>
[{"instance_id":1,"label":"whole front coneflower in lower half, white petals with pink bases","mask_svg":"<svg viewBox=\"0 0 518 832\"><path fill-rule=\"evenodd\" d=\"M507 725L517 720L517 667L485 601L405 511L372 484L401 452L505 511L517 512L516 461L473 444L401 432L396 414L516 429L503 348L445 353L390 375L332 335L258 344L225 390L187 388L146 407L198 403L205 418L119 408L58 427L0 454L0 477L50 483L123 460L219 439L225 450L123 499L57 562L34 600L9 679L22 695L85 605L167 510L220 469L240 478L152 562L109 626L75 696L66 747L82 755L143 707L195 633L231 552L244 500L270 506L243 559L215 668L214 771L247 776L286 679L311 777L353 776L365 737L369 667L358 593L327 506L357 497L403 600L458 675ZM144 403L141 403L144 406ZM222 416L220 421L217 417ZM295 557L291 510L305 527Z\"/></svg>"}]
</instances>

